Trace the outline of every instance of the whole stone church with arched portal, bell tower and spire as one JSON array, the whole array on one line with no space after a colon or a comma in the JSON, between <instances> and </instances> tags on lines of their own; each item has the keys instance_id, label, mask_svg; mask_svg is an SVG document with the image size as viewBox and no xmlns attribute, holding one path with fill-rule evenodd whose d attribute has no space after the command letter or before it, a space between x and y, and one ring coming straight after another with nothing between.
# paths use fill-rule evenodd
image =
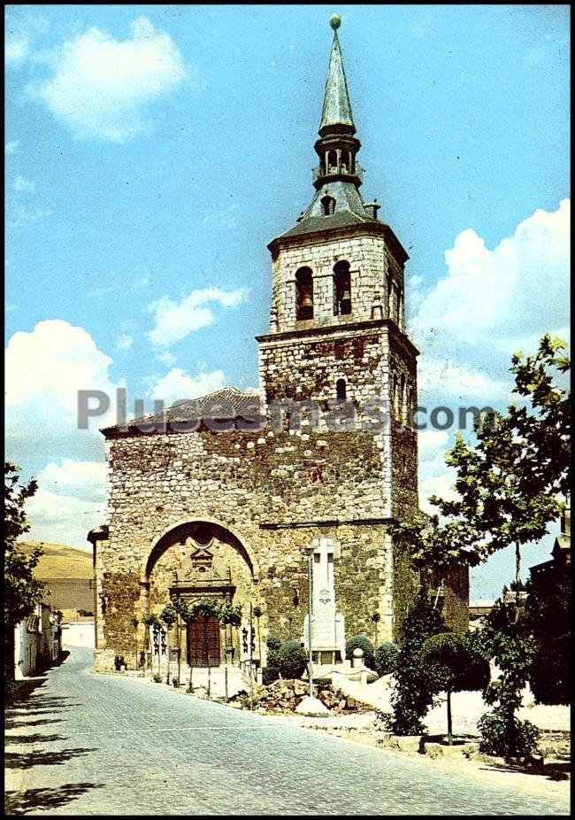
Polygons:
<instances>
[{"instance_id":1,"label":"whole stone church with arched portal, bell tower and spire","mask_svg":"<svg viewBox=\"0 0 575 820\"><path fill-rule=\"evenodd\" d=\"M255 612L265 666L267 635L307 640L309 575L310 598L324 607L319 661L342 660L344 640L360 632L396 640L418 589L393 535L418 511L408 254L377 201L362 197L340 19L330 25L311 203L268 245L258 394L230 387L102 430L107 522L88 534L96 669L118 656L133 666L143 618L177 598L230 602L242 623ZM446 622L464 630L467 572L443 579L441 592ZM312 635L315 618L312 608ZM224 663L229 640L241 656L241 630L228 638L209 620L199 640L188 624L191 665Z\"/></svg>"}]
</instances>

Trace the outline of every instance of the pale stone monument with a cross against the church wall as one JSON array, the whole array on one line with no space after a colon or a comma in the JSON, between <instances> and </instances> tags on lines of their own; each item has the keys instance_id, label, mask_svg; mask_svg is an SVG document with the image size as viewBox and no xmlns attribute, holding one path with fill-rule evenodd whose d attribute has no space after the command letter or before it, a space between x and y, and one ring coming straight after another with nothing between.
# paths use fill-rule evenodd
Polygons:
<instances>
[{"instance_id":1,"label":"pale stone monument with a cross against the church wall","mask_svg":"<svg viewBox=\"0 0 575 820\"><path fill-rule=\"evenodd\" d=\"M335 605L334 561L341 548L332 538L311 542L311 651L313 661L336 663L345 658L345 622ZM309 651L309 615L303 624L303 643Z\"/></svg>"}]
</instances>

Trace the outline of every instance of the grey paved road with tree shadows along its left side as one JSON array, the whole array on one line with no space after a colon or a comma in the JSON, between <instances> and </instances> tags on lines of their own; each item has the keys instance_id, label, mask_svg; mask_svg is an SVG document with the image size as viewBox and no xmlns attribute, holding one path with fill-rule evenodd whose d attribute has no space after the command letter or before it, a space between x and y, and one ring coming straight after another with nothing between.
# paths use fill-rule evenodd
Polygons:
<instances>
[{"instance_id":1,"label":"grey paved road with tree shadows along its left side","mask_svg":"<svg viewBox=\"0 0 575 820\"><path fill-rule=\"evenodd\" d=\"M12 800L34 815L549 815L519 793L126 677L75 648L7 715ZM19 784L15 781L19 779ZM15 802L14 805L17 805Z\"/></svg>"}]
</instances>

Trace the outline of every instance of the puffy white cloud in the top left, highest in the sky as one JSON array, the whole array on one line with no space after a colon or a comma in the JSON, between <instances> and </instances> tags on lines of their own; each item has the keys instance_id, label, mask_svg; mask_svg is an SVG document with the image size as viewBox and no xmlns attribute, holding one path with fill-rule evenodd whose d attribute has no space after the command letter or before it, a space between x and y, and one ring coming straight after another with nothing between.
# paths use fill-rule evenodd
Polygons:
<instances>
[{"instance_id":1,"label":"puffy white cloud in the top left, highest in the sky","mask_svg":"<svg viewBox=\"0 0 575 820\"><path fill-rule=\"evenodd\" d=\"M130 32L129 39L114 40L89 28L47 58L52 75L28 89L77 139L132 139L147 127L146 106L187 76L170 35L146 17L135 19Z\"/></svg>"}]
</instances>

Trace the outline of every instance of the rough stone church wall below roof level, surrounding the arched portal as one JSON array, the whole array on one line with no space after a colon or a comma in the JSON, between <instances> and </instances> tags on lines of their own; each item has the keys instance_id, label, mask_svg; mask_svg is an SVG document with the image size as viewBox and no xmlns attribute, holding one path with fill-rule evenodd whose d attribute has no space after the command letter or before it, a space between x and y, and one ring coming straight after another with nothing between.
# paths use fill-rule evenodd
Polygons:
<instances>
[{"instance_id":1,"label":"rough stone church wall below roof level, surrounding the arched portal","mask_svg":"<svg viewBox=\"0 0 575 820\"><path fill-rule=\"evenodd\" d=\"M264 604L263 631L301 637L307 600L304 549L312 538L329 536L342 545L335 584L349 634L372 628L377 611L380 637L391 637L393 555L387 526L353 523L387 514L376 437L313 430L264 436L160 434L113 440L109 456L110 535L98 544L96 559L101 591L108 596L100 613L99 648L131 651L129 622L144 614L141 582L152 546L181 522L202 520L229 528L248 551L255 568L252 600ZM322 521L325 526L310 524ZM306 526L285 527L294 523ZM277 525L280 529L273 529ZM166 568L170 561L166 557ZM161 566L158 571L161 575ZM237 567L233 575L236 583ZM155 609L162 596L150 586ZM115 599L121 605L111 608Z\"/></svg>"}]
</instances>

